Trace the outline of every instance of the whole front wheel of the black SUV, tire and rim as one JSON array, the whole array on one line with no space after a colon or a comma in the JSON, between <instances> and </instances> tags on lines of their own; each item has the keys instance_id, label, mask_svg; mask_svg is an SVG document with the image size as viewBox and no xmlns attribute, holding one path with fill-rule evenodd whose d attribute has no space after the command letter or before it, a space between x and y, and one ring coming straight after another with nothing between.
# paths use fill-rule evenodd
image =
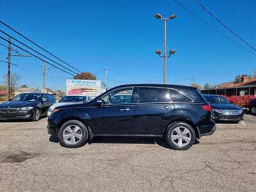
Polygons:
<instances>
[{"instance_id":1,"label":"whole front wheel of the black SUV, tire and rim","mask_svg":"<svg viewBox=\"0 0 256 192\"><path fill-rule=\"evenodd\" d=\"M78 120L65 122L58 132L60 143L64 147L76 148L83 146L88 140L88 131L85 125Z\"/></svg>"}]
</instances>

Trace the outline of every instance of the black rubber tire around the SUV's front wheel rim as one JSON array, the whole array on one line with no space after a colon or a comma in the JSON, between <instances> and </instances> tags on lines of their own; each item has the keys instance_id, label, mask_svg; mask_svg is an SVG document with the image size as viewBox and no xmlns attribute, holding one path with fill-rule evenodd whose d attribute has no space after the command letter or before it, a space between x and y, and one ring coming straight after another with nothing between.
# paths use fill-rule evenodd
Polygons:
<instances>
[{"instance_id":1,"label":"black rubber tire around the SUV's front wheel rim","mask_svg":"<svg viewBox=\"0 0 256 192\"><path fill-rule=\"evenodd\" d=\"M65 128L70 125L71 126L76 125L81 129L82 137L80 141L76 144L67 143L67 141L63 139L63 131L65 131ZM58 138L60 140L61 145L68 148L82 147L83 145L85 145L86 141L88 140L88 136L89 136L89 133L86 126L82 122L79 122L78 120L69 120L68 122L65 122L65 124L61 125L60 130L58 132Z\"/></svg>"}]
</instances>

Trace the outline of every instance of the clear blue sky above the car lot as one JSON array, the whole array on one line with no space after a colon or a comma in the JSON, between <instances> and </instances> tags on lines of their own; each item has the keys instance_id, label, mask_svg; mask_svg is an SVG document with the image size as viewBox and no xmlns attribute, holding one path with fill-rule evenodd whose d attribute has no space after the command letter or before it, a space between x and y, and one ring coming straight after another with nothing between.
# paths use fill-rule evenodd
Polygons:
<instances>
[{"instance_id":1,"label":"clear blue sky above the car lot","mask_svg":"<svg viewBox=\"0 0 256 192\"><path fill-rule=\"evenodd\" d=\"M195 1L179 2L244 45ZM256 47L256 1L200 2ZM252 54L230 42L172 0L0 0L0 18L3 22L82 71L93 73L108 67L109 86L163 82L163 59L154 52L156 49L163 51L163 21L154 18L157 12L163 16L177 15L177 19L167 24L167 50L177 51L167 61L168 83L191 84L191 78L195 77L195 83L204 86L205 83L212 85L232 81L237 74L253 73L256 51L244 45L255 53ZM0 29L31 45L1 24ZM3 40L0 42L6 44ZM1 60L6 60L6 54L7 49L0 45ZM42 61L13 57L12 63L19 65L12 66L12 72L19 74L20 84L42 87ZM0 79L5 72L6 64L0 63ZM65 79L72 78L52 67L49 67L47 76L47 86L61 90L65 90ZM104 72L96 76L104 80Z\"/></svg>"}]
</instances>

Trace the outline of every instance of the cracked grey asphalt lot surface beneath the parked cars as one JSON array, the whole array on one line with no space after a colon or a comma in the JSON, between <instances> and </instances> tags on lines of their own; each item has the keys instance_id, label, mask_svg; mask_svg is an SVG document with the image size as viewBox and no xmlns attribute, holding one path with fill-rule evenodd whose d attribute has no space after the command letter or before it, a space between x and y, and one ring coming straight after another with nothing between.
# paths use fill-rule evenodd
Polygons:
<instances>
[{"instance_id":1,"label":"cracked grey asphalt lot surface beneath the parked cars","mask_svg":"<svg viewBox=\"0 0 256 192\"><path fill-rule=\"evenodd\" d=\"M0 191L255 191L256 116L218 124L187 151L159 138L61 147L39 122L0 122Z\"/></svg>"}]
</instances>

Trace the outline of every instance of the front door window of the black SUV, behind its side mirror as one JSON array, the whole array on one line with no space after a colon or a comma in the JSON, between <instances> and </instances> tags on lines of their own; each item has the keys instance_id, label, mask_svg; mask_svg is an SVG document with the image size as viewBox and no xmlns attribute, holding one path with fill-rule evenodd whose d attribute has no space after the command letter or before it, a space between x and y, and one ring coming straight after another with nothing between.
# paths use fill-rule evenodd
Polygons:
<instances>
[{"instance_id":1,"label":"front door window of the black SUV, behind its side mirror","mask_svg":"<svg viewBox=\"0 0 256 192\"><path fill-rule=\"evenodd\" d=\"M129 104L132 101L133 88L125 88L123 90L114 90L102 97L103 104Z\"/></svg>"}]
</instances>

